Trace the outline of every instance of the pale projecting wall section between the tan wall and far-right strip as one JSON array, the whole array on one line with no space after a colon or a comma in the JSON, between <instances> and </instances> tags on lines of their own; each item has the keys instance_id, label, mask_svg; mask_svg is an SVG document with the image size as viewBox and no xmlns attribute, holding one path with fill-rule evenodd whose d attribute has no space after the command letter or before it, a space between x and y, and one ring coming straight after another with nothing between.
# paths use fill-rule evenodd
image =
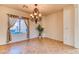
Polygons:
<instances>
[{"instance_id":1,"label":"pale projecting wall section between the tan wall and far-right strip","mask_svg":"<svg viewBox=\"0 0 79 59\"><path fill-rule=\"evenodd\" d=\"M64 44L74 46L74 7L69 6L63 9Z\"/></svg>"}]
</instances>

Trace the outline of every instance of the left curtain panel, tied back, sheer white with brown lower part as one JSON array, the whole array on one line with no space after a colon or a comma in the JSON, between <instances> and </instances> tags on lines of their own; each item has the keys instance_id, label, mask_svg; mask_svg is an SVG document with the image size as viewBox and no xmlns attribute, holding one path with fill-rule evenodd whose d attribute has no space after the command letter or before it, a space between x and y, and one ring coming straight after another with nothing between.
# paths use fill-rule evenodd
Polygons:
<instances>
[{"instance_id":1,"label":"left curtain panel, tied back, sheer white with brown lower part","mask_svg":"<svg viewBox=\"0 0 79 59\"><path fill-rule=\"evenodd\" d=\"M10 28L14 26L18 18L16 17L11 17L8 16L8 39L7 42L11 41L11 33L10 33Z\"/></svg>"}]
</instances>

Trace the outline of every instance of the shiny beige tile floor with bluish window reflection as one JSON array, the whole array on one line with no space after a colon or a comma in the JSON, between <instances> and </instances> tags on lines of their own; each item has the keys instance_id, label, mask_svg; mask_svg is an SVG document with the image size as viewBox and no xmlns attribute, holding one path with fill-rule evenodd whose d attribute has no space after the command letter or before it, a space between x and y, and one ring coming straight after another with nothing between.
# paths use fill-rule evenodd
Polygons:
<instances>
[{"instance_id":1,"label":"shiny beige tile floor with bluish window reflection","mask_svg":"<svg viewBox=\"0 0 79 59\"><path fill-rule=\"evenodd\" d=\"M0 54L74 54L79 49L53 39L31 39L0 46Z\"/></svg>"}]
</instances>

